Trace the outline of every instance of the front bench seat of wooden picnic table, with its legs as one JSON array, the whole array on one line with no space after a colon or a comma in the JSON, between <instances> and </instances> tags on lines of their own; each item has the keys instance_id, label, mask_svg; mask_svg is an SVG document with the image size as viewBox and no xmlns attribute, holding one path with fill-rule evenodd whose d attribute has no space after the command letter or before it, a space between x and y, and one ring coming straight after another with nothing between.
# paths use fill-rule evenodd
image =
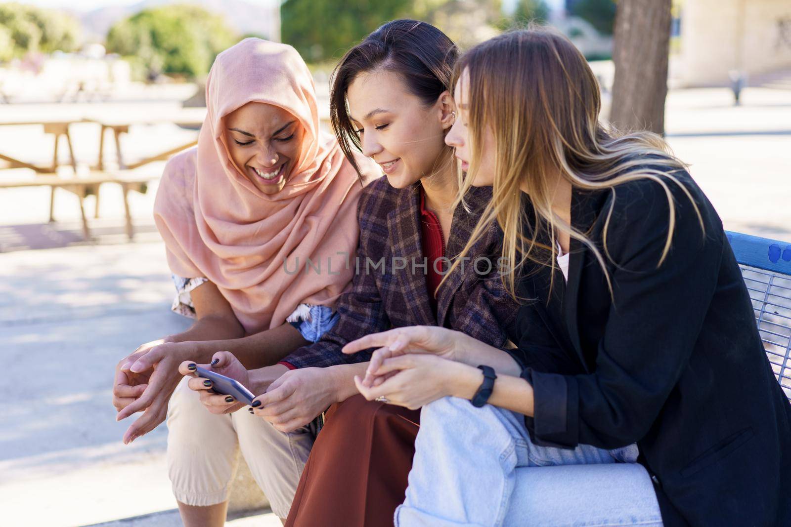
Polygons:
<instances>
[{"instance_id":1,"label":"front bench seat of wooden picnic table, with its legs","mask_svg":"<svg viewBox=\"0 0 791 527\"><path fill-rule=\"evenodd\" d=\"M50 221L53 221L53 205L55 203L55 189L68 190L75 194L80 204L80 216L82 220L82 234L85 240L91 239L91 232L88 224L88 218L85 216L85 197L96 194L98 195L99 186L102 183L115 183L121 186L123 190L123 209L126 214L127 220L127 236L129 239L134 238L134 226L132 224L131 211L129 209L128 194L130 190L145 193L148 183L157 176L151 175L131 175L131 174L117 174L105 171L92 171L85 177L75 177L73 179L62 178L55 174L37 174L35 178L26 179L3 179L0 178L0 189L7 188L22 188L26 186L49 186L52 189L50 199ZM98 202L97 202L98 206Z\"/></svg>"}]
</instances>

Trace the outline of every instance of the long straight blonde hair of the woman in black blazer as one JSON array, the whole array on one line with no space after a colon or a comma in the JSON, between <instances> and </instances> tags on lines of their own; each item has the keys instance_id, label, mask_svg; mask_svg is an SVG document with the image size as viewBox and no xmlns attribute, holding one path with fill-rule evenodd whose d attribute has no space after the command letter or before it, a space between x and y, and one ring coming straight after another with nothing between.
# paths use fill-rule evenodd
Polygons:
<instances>
[{"instance_id":1,"label":"long straight blonde hair of the woman in black blazer","mask_svg":"<svg viewBox=\"0 0 791 527\"><path fill-rule=\"evenodd\" d=\"M581 190L614 191L615 186L635 179L651 179L662 186L670 205L669 230L657 266L664 262L670 250L676 223L666 179L687 194L703 227L689 190L673 175L684 171L686 166L672 156L664 140L649 132L618 134L599 122L601 102L596 77L565 36L539 26L504 33L462 55L456 62L453 86L465 70L469 75L467 126L471 160L467 175L460 182L456 206L466 206L464 194L479 171L487 126L494 133L496 144L494 186L490 203L445 278L496 220L504 233L501 258L509 262L502 277L515 299L518 298L515 276L525 262L555 265L557 249L552 243L547 246L538 241L541 232L547 233L550 240L555 239L558 231L566 232L589 247L604 269L612 292L601 251L586 233L578 232L552 210L558 172L573 188ZM528 211L522 205L523 189L535 212L527 235L524 220ZM604 255L610 262L607 228L611 213L612 206L603 240Z\"/></svg>"}]
</instances>

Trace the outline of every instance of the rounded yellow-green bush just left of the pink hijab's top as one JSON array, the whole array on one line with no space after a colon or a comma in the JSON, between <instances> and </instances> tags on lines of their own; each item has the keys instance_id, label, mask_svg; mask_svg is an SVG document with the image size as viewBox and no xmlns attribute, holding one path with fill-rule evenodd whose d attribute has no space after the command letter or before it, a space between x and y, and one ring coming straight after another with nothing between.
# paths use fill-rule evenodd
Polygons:
<instances>
[{"instance_id":1,"label":"rounded yellow-green bush just left of the pink hijab's top","mask_svg":"<svg viewBox=\"0 0 791 527\"><path fill-rule=\"evenodd\" d=\"M197 6L174 5L143 9L115 24L107 49L141 63L152 75L199 77L237 40L222 17Z\"/></svg>"}]
</instances>

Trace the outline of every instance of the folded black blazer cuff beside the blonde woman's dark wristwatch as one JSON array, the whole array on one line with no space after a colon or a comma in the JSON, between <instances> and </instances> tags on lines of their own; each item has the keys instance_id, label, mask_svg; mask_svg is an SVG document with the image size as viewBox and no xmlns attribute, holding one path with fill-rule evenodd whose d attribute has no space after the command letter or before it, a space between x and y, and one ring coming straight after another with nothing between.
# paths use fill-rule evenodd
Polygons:
<instances>
[{"instance_id":1,"label":"folded black blazer cuff beside the blonde woman's dark wristwatch","mask_svg":"<svg viewBox=\"0 0 791 527\"><path fill-rule=\"evenodd\" d=\"M566 375L522 371L533 388L533 417L525 416L524 426L538 446L576 448L578 441L577 384Z\"/></svg>"}]
</instances>

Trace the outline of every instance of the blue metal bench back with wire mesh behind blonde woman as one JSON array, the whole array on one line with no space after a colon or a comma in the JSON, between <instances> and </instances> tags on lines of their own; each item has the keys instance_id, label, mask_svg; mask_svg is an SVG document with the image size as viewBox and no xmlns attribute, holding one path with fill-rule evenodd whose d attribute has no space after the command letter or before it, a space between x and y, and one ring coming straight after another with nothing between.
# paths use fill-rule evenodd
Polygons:
<instances>
[{"instance_id":1,"label":"blue metal bench back with wire mesh behind blonde woman","mask_svg":"<svg viewBox=\"0 0 791 527\"><path fill-rule=\"evenodd\" d=\"M750 292L766 356L791 401L791 243L726 235Z\"/></svg>"}]
</instances>

